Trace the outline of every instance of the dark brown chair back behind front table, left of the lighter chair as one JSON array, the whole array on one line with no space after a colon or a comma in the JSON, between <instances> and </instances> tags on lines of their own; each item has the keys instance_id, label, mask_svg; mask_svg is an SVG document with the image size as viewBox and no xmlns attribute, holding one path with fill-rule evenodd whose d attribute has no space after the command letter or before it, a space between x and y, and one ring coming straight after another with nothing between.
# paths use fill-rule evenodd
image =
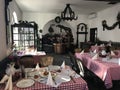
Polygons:
<instances>
[{"instance_id":1,"label":"dark brown chair back behind front table, left of the lighter chair","mask_svg":"<svg viewBox=\"0 0 120 90\"><path fill-rule=\"evenodd\" d=\"M34 59L32 55L25 55L19 59L19 65L23 65L25 68L34 67Z\"/></svg>"}]
</instances>

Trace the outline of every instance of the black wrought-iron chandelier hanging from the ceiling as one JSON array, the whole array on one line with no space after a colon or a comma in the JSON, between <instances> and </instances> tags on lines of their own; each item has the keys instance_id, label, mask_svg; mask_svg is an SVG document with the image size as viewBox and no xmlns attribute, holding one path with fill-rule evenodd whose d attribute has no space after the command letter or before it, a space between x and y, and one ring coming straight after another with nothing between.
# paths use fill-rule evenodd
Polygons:
<instances>
[{"instance_id":1,"label":"black wrought-iron chandelier hanging from the ceiling","mask_svg":"<svg viewBox=\"0 0 120 90\"><path fill-rule=\"evenodd\" d=\"M77 20L78 17L75 16L74 11L72 11L70 4L66 4L63 12L61 12L61 19L63 20Z\"/></svg>"}]
</instances>

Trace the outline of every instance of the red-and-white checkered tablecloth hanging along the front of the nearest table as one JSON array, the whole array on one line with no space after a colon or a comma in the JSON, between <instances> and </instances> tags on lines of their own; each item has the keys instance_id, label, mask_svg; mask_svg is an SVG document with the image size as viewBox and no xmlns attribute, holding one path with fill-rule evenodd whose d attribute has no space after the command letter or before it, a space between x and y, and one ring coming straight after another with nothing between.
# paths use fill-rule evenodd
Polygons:
<instances>
[{"instance_id":1,"label":"red-and-white checkered tablecloth hanging along the front of the nearest table","mask_svg":"<svg viewBox=\"0 0 120 90\"><path fill-rule=\"evenodd\" d=\"M74 80L75 82L73 82L73 80L64 82L57 88L39 82L35 82L33 86L28 88L18 88L16 83L14 83L13 90L88 90L87 83L81 77L74 78ZM0 85L0 90L4 90L4 88L5 85Z\"/></svg>"}]
</instances>

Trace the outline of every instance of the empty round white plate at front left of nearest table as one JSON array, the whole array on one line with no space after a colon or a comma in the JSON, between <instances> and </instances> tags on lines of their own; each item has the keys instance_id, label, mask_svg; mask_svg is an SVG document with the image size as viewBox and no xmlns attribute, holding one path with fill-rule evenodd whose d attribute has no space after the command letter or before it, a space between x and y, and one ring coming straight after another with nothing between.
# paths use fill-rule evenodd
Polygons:
<instances>
[{"instance_id":1,"label":"empty round white plate at front left of nearest table","mask_svg":"<svg viewBox=\"0 0 120 90\"><path fill-rule=\"evenodd\" d=\"M17 82L16 86L19 88L27 88L27 87L32 86L34 83L35 82L32 79L22 79Z\"/></svg>"}]
</instances>

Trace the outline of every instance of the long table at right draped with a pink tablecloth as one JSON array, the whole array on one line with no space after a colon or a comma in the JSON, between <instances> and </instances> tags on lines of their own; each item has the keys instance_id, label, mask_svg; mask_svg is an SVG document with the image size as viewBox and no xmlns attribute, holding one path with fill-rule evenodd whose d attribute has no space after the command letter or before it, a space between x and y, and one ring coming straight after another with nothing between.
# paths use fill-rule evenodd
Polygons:
<instances>
[{"instance_id":1,"label":"long table at right draped with a pink tablecloth","mask_svg":"<svg viewBox=\"0 0 120 90\"><path fill-rule=\"evenodd\" d=\"M118 57L98 57L92 59L94 56L91 53L75 53L82 63L95 75L97 75L106 88L113 86L113 80L120 80L120 59Z\"/></svg>"}]
</instances>

